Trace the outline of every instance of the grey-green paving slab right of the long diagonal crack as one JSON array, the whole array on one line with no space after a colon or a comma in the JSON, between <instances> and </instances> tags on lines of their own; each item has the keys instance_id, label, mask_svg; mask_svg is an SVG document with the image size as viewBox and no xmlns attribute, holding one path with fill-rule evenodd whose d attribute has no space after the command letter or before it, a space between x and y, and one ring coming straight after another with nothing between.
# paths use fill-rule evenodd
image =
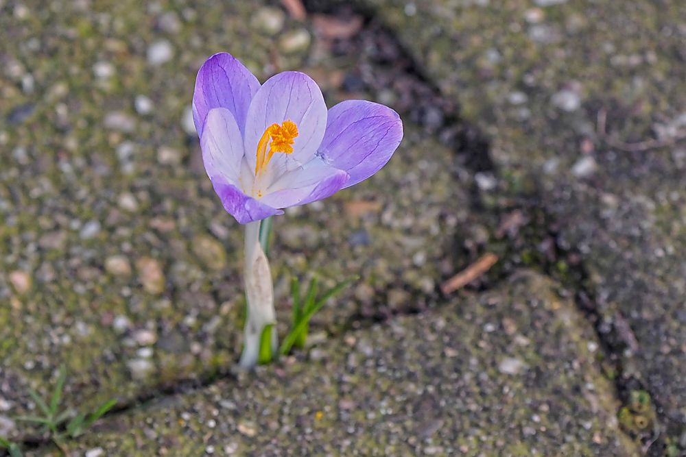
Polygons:
<instances>
[{"instance_id":1,"label":"grey-green paving slab right of the long diagonal crack","mask_svg":"<svg viewBox=\"0 0 686 457\"><path fill-rule=\"evenodd\" d=\"M529 195L554 219L600 331L622 340L624 378L648 388L683 443L684 3L362 3L488 135L499 184L484 201Z\"/></svg>"}]
</instances>

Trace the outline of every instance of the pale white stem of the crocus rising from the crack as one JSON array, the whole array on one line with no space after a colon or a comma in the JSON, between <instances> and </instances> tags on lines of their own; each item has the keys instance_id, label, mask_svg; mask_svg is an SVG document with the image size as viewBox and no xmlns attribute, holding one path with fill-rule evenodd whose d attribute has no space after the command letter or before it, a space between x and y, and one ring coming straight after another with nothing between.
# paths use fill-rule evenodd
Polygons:
<instances>
[{"instance_id":1,"label":"pale white stem of the crocus rising from the crack","mask_svg":"<svg viewBox=\"0 0 686 457\"><path fill-rule=\"evenodd\" d=\"M259 244L260 221L246 224L245 286L248 301L241 367L254 367L259 358L260 336L265 325L276 323L274 286L269 261ZM272 354L276 354L276 327L272 328Z\"/></svg>"}]
</instances>

